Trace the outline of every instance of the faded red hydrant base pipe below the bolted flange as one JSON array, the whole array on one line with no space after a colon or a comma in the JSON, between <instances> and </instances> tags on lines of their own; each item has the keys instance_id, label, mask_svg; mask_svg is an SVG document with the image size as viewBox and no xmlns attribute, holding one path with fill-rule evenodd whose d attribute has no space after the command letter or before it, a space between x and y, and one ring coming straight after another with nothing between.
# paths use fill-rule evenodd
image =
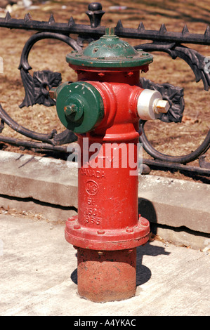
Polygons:
<instances>
[{"instance_id":1,"label":"faded red hydrant base pipe below the bolted flange","mask_svg":"<svg viewBox=\"0 0 210 330\"><path fill-rule=\"evenodd\" d=\"M136 293L136 248L122 251L77 250L78 293L104 303L121 301Z\"/></svg>"}]
</instances>

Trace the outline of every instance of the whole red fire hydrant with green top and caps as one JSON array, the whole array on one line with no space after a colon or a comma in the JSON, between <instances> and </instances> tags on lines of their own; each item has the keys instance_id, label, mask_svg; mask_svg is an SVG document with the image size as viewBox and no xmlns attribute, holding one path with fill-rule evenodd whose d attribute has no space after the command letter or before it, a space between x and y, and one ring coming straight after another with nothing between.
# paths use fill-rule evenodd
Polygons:
<instances>
[{"instance_id":1,"label":"whole red fire hydrant with green top and caps","mask_svg":"<svg viewBox=\"0 0 210 330\"><path fill-rule=\"evenodd\" d=\"M77 249L79 295L120 301L135 296L136 247L150 232L138 214L138 123L159 118L169 103L140 86L152 55L119 39L114 28L66 60L78 81L50 92L81 150L78 216L67 220L65 239Z\"/></svg>"}]
</instances>

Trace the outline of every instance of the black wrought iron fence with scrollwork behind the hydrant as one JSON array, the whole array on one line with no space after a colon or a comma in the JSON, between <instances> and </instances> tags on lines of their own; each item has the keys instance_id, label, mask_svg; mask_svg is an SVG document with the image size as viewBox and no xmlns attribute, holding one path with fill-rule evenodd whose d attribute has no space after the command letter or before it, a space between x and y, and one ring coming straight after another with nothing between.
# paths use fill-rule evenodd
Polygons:
<instances>
[{"instance_id":1,"label":"black wrought iron fence with scrollwork behind the hydrant","mask_svg":"<svg viewBox=\"0 0 210 330\"><path fill-rule=\"evenodd\" d=\"M46 107L55 105L55 101L50 98L48 91L52 87L58 86L62 81L60 73L51 72L49 70L34 72L33 76L30 74L29 71L32 70L32 67L29 65L28 61L29 52L37 41L41 39L58 39L74 50L79 51L83 47L84 41L89 43L93 40L97 40L105 34L105 27L100 25L101 18L105 14L101 4L96 2L89 4L86 14L90 20L89 25L77 24L72 17L67 23L55 22L52 14L48 22L32 20L29 14L25 15L24 19L12 18L10 13L6 13L5 18L0 18L0 27L6 27L8 29L34 30L36 32L25 43L25 46L22 49L20 65L18 67L22 78L22 84L25 88L25 98L21 105L19 105L20 108L34 104L41 104ZM206 27L204 34L191 34L188 31L187 25L183 27L182 32L167 32L164 24L161 25L159 30L151 30L145 29L143 22L140 22L137 29L131 29L123 27L121 20L119 20L116 27L114 27L114 32L119 37L123 38L152 41L150 43L136 45L136 49L141 48L143 51L148 52L164 52L168 53L172 59L183 59L190 66L192 72L194 72L195 81L198 82L202 80L204 90L209 91L210 70L205 70L206 62L204 55L183 45L210 45L209 26ZM77 39L72 39L70 34L77 35ZM144 78L141 78L140 82L143 88L155 89L162 93L164 100L169 101L169 112L167 114L162 114L160 120L165 122L181 122L185 107L183 88L171 84L155 84ZM0 117L0 133L3 131L4 125L7 124L14 131L32 139L30 141L20 140L17 138L2 136L0 134L0 141L4 143L32 147L43 151L67 152L66 144L77 140L74 133L68 130L63 131L62 133L57 133L54 129L48 134L31 131L11 118L1 105ZM145 121L140 121L140 128L143 132L140 136L140 142L143 143L143 147L147 154L150 154L153 158L143 159L144 164L147 164L152 169L173 169L209 176L210 163L205 161L205 154L210 146L210 131L196 150L190 154L175 157L155 150L155 147L153 147L147 139L144 126ZM195 167L186 165L195 159L199 159L199 166Z\"/></svg>"}]
</instances>

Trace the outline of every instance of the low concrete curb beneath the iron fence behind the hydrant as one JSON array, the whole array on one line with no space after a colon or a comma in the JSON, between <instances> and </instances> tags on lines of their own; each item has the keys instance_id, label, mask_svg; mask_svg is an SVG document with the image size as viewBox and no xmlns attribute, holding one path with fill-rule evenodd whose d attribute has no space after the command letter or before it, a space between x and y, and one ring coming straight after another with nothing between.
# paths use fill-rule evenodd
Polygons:
<instances>
[{"instance_id":1,"label":"low concrete curb beneath the iron fence behind the hydrant","mask_svg":"<svg viewBox=\"0 0 210 330\"><path fill-rule=\"evenodd\" d=\"M165 239L176 237L176 243L195 249L209 246L209 185L139 176L138 196L140 214L158 235L167 233ZM77 213L77 167L70 161L0 151L0 203L5 209L65 221Z\"/></svg>"}]
</instances>

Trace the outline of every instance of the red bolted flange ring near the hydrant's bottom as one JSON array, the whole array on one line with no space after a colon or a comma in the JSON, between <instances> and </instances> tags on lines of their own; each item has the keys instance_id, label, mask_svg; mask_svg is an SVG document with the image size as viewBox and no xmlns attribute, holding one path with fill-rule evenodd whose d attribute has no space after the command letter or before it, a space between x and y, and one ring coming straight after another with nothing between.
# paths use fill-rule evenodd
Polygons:
<instances>
[{"instance_id":1,"label":"red bolted flange ring near the hydrant's bottom","mask_svg":"<svg viewBox=\"0 0 210 330\"><path fill-rule=\"evenodd\" d=\"M150 223L139 217L137 225L115 230L82 226L77 216L69 218L65 227L65 239L74 246L92 250L124 250L145 244L150 233Z\"/></svg>"}]
</instances>

